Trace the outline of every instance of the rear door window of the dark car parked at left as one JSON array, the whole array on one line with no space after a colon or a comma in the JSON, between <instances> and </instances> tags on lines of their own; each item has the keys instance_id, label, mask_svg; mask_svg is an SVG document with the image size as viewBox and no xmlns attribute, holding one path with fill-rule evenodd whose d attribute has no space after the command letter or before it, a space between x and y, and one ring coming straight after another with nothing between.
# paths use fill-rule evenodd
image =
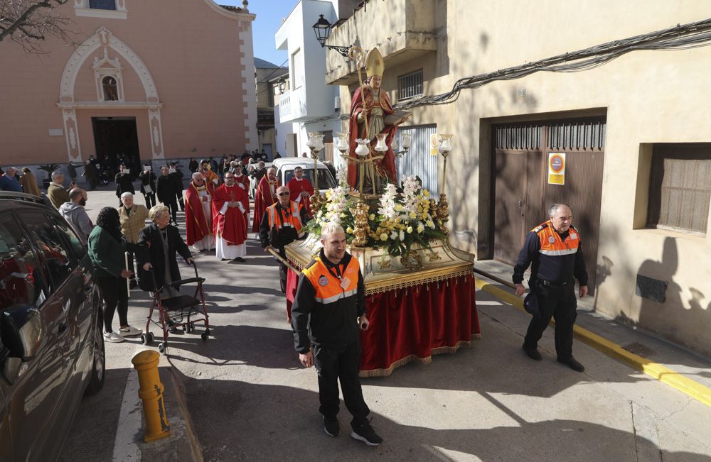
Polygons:
<instances>
[{"instance_id":1,"label":"rear door window of the dark car parked at left","mask_svg":"<svg viewBox=\"0 0 711 462\"><path fill-rule=\"evenodd\" d=\"M69 277L77 263L53 225L50 216L39 213L23 214L22 219L38 251L45 261L52 288L56 289Z\"/></svg>"}]
</instances>

